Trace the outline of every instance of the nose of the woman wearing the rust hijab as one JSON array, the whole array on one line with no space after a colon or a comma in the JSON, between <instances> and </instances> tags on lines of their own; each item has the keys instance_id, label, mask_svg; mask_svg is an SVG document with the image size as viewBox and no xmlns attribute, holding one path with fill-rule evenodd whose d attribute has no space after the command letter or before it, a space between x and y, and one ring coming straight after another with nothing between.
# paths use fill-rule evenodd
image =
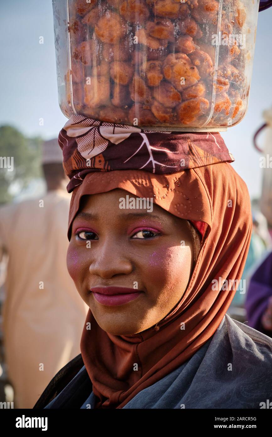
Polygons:
<instances>
[{"instance_id":1,"label":"nose of the woman wearing the rust hijab","mask_svg":"<svg viewBox=\"0 0 272 437\"><path fill-rule=\"evenodd\" d=\"M129 274L133 270L127 251L118 242L105 241L94 254L89 271L103 278L111 278L117 274Z\"/></svg>"}]
</instances>

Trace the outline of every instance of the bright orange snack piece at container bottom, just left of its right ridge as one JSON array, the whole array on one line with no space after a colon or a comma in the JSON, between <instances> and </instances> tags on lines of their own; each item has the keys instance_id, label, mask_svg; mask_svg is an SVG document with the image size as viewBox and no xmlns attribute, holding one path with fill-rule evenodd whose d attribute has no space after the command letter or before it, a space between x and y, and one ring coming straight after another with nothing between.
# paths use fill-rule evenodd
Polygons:
<instances>
[{"instance_id":1,"label":"bright orange snack piece at container bottom, just left of its right ridge","mask_svg":"<svg viewBox=\"0 0 272 437\"><path fill-rule=\"evenodd\" d=\"M209 111L209 101L203 97L186 100L176 108L178 120L183 125L189 125L197 120L200 115Z\"/></svg>"}]
</instances>

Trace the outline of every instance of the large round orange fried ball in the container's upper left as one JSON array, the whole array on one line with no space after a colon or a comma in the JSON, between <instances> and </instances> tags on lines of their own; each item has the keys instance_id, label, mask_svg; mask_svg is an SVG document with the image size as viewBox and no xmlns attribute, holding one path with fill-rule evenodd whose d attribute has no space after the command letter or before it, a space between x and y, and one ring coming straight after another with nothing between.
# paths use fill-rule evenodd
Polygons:
<instances>
[{"instance_id":1,"label":"large round orange fried ball in the container's upper left","mask_svg":"<svg viewBox=\"0 0 272 437\"><path fill-rule=\"evenodd\" d=\"M118 14L107 10L94 27L94 31L101 41L118 44L126 35L127 26Z\"/></svg>"}]
</instances>

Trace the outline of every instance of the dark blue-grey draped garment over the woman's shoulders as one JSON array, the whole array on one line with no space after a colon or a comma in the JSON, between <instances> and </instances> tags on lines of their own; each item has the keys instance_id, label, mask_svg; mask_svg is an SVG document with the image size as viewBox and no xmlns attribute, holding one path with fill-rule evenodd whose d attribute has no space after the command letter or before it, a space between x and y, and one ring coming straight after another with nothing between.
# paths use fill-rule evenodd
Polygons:
<instances>
[{"instance_id":1,"label":"dark blue-grey draped garment over the woman's shoulders","mask_svg":"<svg viewBox=\"0 0 272 437\"><path fill-rule=\"evenodd\" d=\"M93 409L83 366L46 409ZM272 339L227 314L193 357L138 393L124 409L260 408L272 399ZM262 405L262 404L261 404Z\"/></svg>"}]
</instances>

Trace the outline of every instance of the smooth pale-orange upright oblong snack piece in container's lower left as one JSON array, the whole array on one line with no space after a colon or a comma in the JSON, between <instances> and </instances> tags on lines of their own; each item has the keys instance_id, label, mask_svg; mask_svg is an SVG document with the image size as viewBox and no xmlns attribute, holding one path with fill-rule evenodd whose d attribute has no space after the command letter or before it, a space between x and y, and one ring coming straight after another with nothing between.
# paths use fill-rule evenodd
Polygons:
<instances>
[{"instance_id":1,"label":"smooth pale-orange upright oblong snack piece in container's lower left","mask_svg":"<svg viewBox=\"0 0 272 437\"><path fill-rule=\"evenodd\" d=\"M84 103L90 108L109 104L110 80L108 76L90 77L90 84L84 85L84 96Z\"/></svg>"}]
</instances>

